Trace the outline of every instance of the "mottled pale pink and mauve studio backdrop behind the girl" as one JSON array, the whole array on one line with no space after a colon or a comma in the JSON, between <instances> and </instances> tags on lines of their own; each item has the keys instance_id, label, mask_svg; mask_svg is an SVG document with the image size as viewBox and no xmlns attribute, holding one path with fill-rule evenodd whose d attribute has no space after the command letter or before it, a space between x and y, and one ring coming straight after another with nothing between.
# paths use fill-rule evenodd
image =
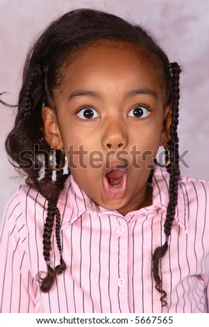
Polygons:
<instances>
[{"instance_id":1,"label":"mottled pale pink and mauve studio backdrop behind the girl","mask_svg":"<svg viewBox=\"0 0 209 327\"><path fill-rule=\"evenodd\" d=\"M52 19L74 8L96 8L142 24L183 67L179 136L190 168L183 175L209 180L209 1L208 0L0 0L0 93L15 104L26 51ZM15 117L0 106L0 221L20 180L8 163L3 142Z\"/></svg>"}]
</instances>

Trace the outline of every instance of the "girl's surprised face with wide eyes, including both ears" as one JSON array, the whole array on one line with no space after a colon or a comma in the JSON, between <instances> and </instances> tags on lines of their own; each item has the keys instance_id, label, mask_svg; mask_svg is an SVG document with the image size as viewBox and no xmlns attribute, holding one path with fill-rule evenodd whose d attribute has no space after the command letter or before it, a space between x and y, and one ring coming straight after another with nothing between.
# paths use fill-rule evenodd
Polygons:
<instances>
[{"instance_id":1,"label":"girl's surprised face with wide eyes, including both ears","mask_svg":"<svg viewBox=\"0 0 209 327\"><path fill-rule=\"evenodd\" d=\"M133 45L97 41L70 58L44 135L67 151L74 180L97 205L127 214L151 204L147 187L159 145L169 139L158 74Z\"/></svg>"}]
</instances>

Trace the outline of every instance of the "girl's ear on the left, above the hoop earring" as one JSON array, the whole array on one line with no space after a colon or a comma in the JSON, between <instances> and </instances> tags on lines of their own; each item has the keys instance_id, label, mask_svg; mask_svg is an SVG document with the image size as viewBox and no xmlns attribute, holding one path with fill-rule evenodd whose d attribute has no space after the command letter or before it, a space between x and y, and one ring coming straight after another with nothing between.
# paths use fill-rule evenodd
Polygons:
<instances>
[{"instance_id":1,"label":"girl's ear on the left, above the hoop earring","mask_svg":"<svg viewBox=\"0 0 209 327\"><path fill-rule=\"evenodd\" d=\"M42 109L42 122L44 138L51 147L60 150L63 147L56 112L49 106L44 106Z\"/></svg>"}]
</instances>

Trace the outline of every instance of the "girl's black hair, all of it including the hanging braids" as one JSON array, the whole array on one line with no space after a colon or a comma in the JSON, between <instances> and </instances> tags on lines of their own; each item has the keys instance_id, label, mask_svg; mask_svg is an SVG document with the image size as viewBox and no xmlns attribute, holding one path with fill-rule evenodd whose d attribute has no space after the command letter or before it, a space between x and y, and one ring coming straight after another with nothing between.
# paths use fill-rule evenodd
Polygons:
<instances>
[{"instance_id":1,"label":"girl's black hair, all of it including the hanging braids","mask_svg":"<svg viewBox=\"0 0 209 327\"><path fill-rule=\"evenodd\" d=\"M159 266L168 248L177 203L179 177L177 125L181 69L177 63L169 63L165 52L142 27L134 26L115 15L90 9L73 10L62 15L49 24L28 51L15 126L6 138L6 151L12 159L12 164L24 172L26 183L37 189L48 202L43 234L43 255L47 264L47 276L40 277L40 288L42 292L49 292L56 275L66 269L62 259L60 212L57 202L65 180L70 174L70 172L64 174L61 170L56 173L56 181L51 179L52 170L47 164L50 146L44 141L41 111L44 104L52 105L54 102L53 90L59 88L62 83L62 67L66 59L73 51L82 49L95 40L129 42L144 51L148 55L148 60L154 60L160 72L165 88L165 105L172 105L169 147L170 152L175 156L170 158L171 162L167 168L170 177L169 204L164 225L165 243L156 248L152 255L152 273L156 289L160 292L162 305L166 305L167 294L162 288ZM39 151L34 154L33 163L24 166L19 154L23 150L28 153L33 152L34 144L39 146ZM60 264L55 269L50 263L51 232L54 223L56 223L56 243L60 253Z\"/></svg>"}]
</instances>

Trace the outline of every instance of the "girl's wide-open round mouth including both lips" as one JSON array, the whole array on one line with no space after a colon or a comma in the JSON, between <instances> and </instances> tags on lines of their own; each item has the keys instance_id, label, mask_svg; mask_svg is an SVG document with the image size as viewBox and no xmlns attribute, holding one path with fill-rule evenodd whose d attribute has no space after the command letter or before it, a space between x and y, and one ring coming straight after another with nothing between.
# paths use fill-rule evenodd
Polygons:
<instances>
[{"instance_id":1,"label":"girl's wide-open round mouth including both lips","mask_svg":"<svg viewBox=\"0 0 209 327\"><path fill-rule=\"evenodd\" d=\"M103 177L103 186L108 198L122 198L126 193L126 169L112 168Z\"/></svg>"}]
</instances>

